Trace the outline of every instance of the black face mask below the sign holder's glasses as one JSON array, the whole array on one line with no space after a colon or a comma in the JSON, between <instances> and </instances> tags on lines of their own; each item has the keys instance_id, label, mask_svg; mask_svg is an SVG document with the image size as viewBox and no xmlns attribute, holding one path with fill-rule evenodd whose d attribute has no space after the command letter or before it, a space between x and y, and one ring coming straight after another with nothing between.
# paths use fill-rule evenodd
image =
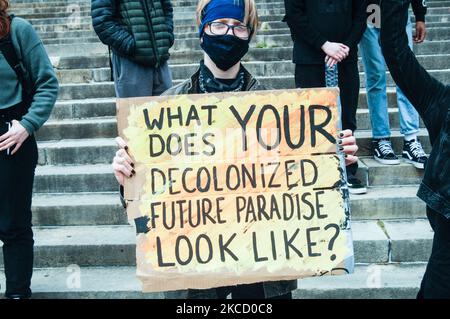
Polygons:
<instances>
[{"instance_id":1,"label":"black face mask below the sign holder's glasses","mask_svg":"<svg viewBox=\"0 0 450 319\"><path fill-rule=\"evenodd\" d=\"M249 49L250 40L242 40L234 35L203 34L202 49L222 71L227 71L238 63Z\"/></svg>"}]
</instances>

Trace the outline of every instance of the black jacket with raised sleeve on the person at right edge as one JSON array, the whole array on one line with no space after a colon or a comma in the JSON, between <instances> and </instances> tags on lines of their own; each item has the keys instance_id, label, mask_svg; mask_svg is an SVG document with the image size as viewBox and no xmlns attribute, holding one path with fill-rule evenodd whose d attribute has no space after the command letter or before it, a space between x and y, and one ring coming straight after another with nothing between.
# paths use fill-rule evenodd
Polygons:
<instances>
[{"instance_id":1,"label":"black jacket with raised sleeve on the person at right edge","mask_svg":"<svg viewBox=\"0 0 450 319\"><path fill-rule=\"evenodd\" d=\"M392 77L417 109L433 145L418 196L450 218L450 87L431 77L408 47L411 0L383 0L381 46Z\"/></svg>"}]
</instances>

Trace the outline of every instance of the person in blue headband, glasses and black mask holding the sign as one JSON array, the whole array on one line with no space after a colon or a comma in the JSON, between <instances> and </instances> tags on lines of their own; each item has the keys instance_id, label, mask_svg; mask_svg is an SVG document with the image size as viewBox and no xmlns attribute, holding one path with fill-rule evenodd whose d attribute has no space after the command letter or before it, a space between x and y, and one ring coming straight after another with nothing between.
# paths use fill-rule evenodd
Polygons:
<instances>
[{"instance_id":1,"label":"person in blue headband, glasses and black mask holding the sign","mask_svg":"<svg viewBox=\"0 0 450 319\"><path fill-rule=\"evenodd\" d=\"M163 95L261 91L265 88L243 67L241 60L258 27L254 0L200 0L197 21L204 59L189 79L169 89ZM357 162L356 140L350 130L339 134L340 150L346 154L346 164ZM120 149L113 160L116 179L120 185L136 175L135 165L128 154L124 139L118 137ZM334 139L333 139L334 140ZM123 188L121 189L123 194ZM250 258L250 257L249 257ZM237 299L291 299L296 280L260 282L212 289L188 289L166 292L167 298L226 298L230 293Z\"/></svg>"}]
</instances>

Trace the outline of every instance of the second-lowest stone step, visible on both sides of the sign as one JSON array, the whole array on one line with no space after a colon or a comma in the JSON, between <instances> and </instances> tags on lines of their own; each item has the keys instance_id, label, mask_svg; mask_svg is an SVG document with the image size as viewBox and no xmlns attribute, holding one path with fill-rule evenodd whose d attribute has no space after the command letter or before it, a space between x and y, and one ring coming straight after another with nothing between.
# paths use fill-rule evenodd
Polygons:
<instances>
[{"instance_id":1,"label":"second-lowest stone step, visible on both sides of the sign","mask_svg":"<svg viewBox=\"0 0 450 319\"><path fill-rule=\"evenodd\" d=\"M426 262L433 238L427 220L354 221L352 233L357 263ZM34 227L34 238L37 268L136 264L132 226Z\"/></svg>"}]
</instances>

